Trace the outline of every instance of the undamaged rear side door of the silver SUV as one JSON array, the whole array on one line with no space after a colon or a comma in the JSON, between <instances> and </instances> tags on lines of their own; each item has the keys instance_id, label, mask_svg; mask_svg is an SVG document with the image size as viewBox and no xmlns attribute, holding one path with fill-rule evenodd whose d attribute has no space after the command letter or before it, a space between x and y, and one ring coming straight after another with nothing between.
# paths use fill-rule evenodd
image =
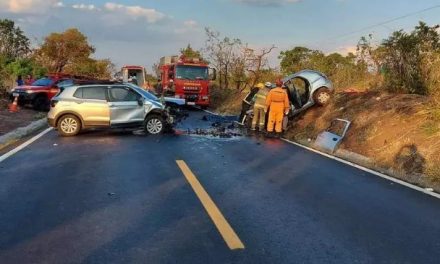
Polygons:
<instances>
[{"instance_id":1,"label":"undamaged rear side door of the silver SUV","mask_svg":"<svg viewBox=\"0 0 440 264\"><path fill-rule=\"evenodd\" d=\"M80 87L73 94L76 111L81 115L85 126L109 126L110 110L107 102L107 87Z\"/></svg>"}]
</instances>

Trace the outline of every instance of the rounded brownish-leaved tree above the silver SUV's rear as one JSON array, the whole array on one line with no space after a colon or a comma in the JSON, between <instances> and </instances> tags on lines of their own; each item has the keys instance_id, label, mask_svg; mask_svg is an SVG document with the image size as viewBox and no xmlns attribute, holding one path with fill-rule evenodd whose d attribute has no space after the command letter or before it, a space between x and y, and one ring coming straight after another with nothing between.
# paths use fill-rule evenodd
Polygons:
<instances>
[{"instance_id":1,"label":"rounded brownish-leaved tree above the silver SUV's rear","mask_svg":"<svg viewBox=\"0 0 440 264\"><path fill-rule=\"evenodd\" d=\"M94 52L87 37L76 28L50 34L37 50L38 61L52 72L62 72L66 66L84 63Z\"/></svg>"}]
</instances>

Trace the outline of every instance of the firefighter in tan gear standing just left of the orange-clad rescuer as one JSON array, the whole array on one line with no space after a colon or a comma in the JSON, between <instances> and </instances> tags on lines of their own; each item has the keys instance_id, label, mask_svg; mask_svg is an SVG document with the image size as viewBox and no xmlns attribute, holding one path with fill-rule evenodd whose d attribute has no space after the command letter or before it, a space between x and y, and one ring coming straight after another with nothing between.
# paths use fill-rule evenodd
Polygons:
<instances>
[{"instance_id":1,"label":"firefighter in tan gear standing just left of the orange-clad rescuer","mask_svg":"<svg viewBox=\"0 0 440 264\"><path fill-rule=\"evenodd\" d=\"M266 98L267 94L270 91L270 87L272 86L271 83L267 82L266 85L263 85L262 83L257 84L258 92L254 96L254 117L252 118L252 126L251 130L255 131L257 124L258 124L258 131L263 132L264 127L266 125L266 113L267 113L267 106L266 106Z\"/></svg>"}]
</instances>

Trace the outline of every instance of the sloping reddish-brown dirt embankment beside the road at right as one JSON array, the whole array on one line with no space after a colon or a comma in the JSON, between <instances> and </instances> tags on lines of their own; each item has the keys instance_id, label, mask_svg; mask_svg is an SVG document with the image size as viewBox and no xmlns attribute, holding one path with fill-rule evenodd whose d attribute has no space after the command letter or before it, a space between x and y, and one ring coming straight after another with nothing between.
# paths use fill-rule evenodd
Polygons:
<instances>
[{"instance_id":1,"label":"sloping reddish-brown dirt embankment beside the road at right","mask_svg":"<svg viewBox=\"0 0 440 264\"><path fill-rule=\"evenodd\" d=\"M286 136L312 141L335 118L352 121L341 148L371 159L375 168L440 190L440 120L429 98L378 92L338 93L326 107L295 119Z\"/></svg>"}]
</instances>

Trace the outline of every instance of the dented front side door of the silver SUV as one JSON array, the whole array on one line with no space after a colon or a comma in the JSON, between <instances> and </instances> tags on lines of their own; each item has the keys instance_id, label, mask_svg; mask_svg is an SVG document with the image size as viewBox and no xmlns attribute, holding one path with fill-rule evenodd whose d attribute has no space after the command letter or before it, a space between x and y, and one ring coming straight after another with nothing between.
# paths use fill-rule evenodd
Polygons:
<instances>
[{"instance_id":1,"label":"dented front side door of the silver SUV","mask_svg":"<svg viewBox=\"0 0 440 264\"><path fill-rule=\"evenodd\" d=\"M140 94L126 86L112 86L108 90L108 97L111 125L144 122L145 110Z\"/></svg>"}]
</instances>

